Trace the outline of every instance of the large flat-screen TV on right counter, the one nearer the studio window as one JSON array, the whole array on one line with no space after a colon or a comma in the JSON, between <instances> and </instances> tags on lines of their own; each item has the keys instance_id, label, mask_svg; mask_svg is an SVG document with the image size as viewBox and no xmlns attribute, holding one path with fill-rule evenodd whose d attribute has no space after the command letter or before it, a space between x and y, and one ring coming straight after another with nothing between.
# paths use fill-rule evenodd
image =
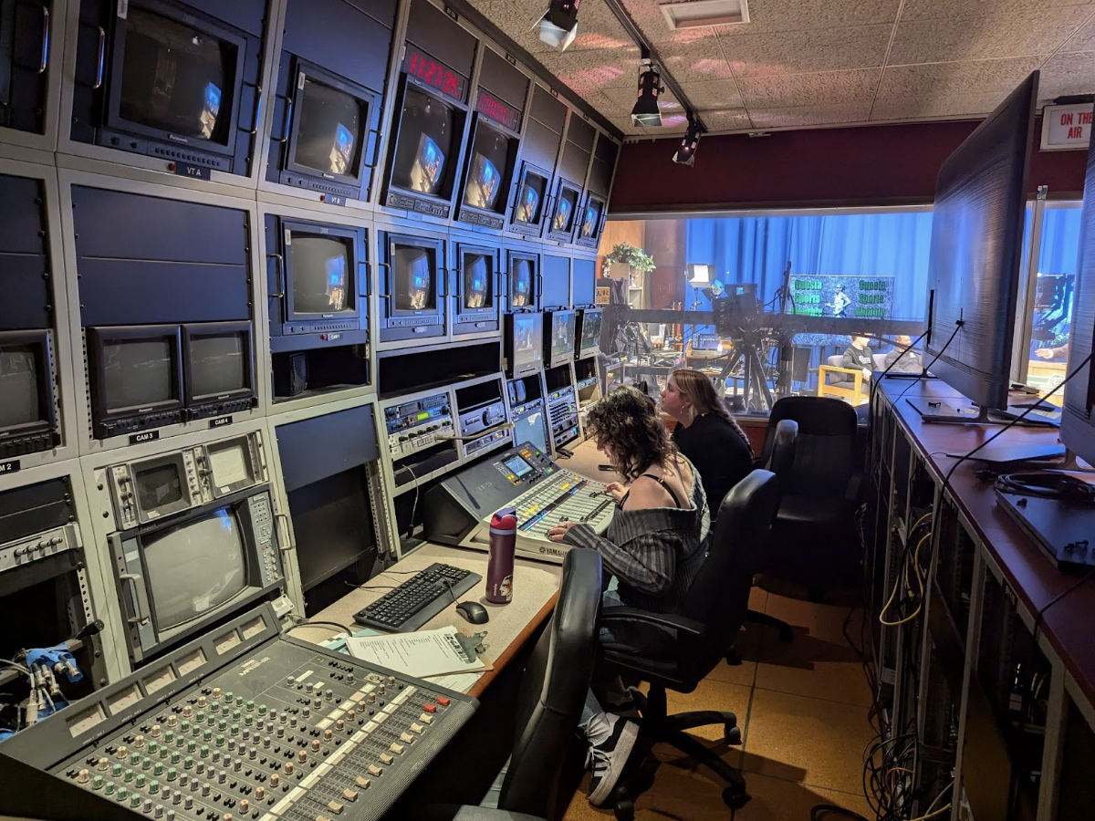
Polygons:
<instances>
[{"instance_id":1,"label":"large flat-screen TV on right counter, the one nearer the studio window","mask_svg":"<svg viewBox=\"0 0 1095 821\"><path fill-rule=\"evenodd\" d=\"M944 161L935 183L924 356L982 412L1007 407L1037 101L1035 71Z\"/></svg>"}]
</instances>

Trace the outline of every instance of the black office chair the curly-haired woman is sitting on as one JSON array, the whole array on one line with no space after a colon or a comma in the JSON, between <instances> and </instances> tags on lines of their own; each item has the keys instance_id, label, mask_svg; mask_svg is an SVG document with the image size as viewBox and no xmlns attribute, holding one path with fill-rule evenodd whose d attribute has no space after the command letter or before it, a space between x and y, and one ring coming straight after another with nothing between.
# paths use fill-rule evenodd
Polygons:
<instances>
[{"instance_id":1,"label":"black office chair the curly-haired woman is sitting on","mask_svg":"<svg viewBox=\"0 0 1095 821\"><path fill-rule=\"evenodd\" d=\"M620 821L634 818L635 798L649 786L646 764L656 760L649 755L660 742L671 744L685 755L711 768L727 787L723 800L737 809L749 800L741 773L723 761L685 730L706 725L723 725L727 743L741 743L737 717L724 710L701 710L670 716L666 707L666 691L691 693L716 664L741 628L749 606L753 566L768 540L772 519L779 505L780 492L774 474L756 470L734 486L718 508L718 521L707 558L689 588L685 606L680 614L649 613L635 608L606 608L601 625L618 626L627 633L627 644L613 646L602 640L606 664L624 675L649 683L645 699L638 697L643 717L639 721L633 761L643 762L624 772L609 800ZM644 656L634 648L642 646L642 634L664 634L676 637L676 654ZM638 637L636 637L638 634ZM664 645L664 641L657 645ZM652 646L657 646L652 643Z\"/></svg>"}]
</instances>

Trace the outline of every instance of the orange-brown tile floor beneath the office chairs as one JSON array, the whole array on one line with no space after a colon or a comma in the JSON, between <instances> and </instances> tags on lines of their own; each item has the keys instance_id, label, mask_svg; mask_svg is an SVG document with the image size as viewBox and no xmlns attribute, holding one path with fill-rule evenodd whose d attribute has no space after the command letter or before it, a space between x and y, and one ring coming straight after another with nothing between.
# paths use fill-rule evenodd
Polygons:
<instances>
[{"instance_id":1,"label":"orange-brown tile floor beneath the office chairs","mask_svg":"<svg viewBox=\"0 0 1095 821\"><path fill-rule=\"evenodd\" d=\"M752 800L735 821L809 821L810 808L834 803L873 818L862 789L863 748L871 693L852 648L841 634L849 606L811 604L753 590L753 610L789 623L795 640L782 644L775 631L749 625L738 649L739 667L719 664L694 693L669 693L669 712L731 709L741 727L741 747L722 747L723 758L746 775ZM862 611L851 621L860 635ZM721 727L694 730L722 745ZM722 801L723 784L705 768L657 748L661 760L654 787L635 805L636 821L731 818ZM610 809L586 800L588 776L570 801L567 821L608 821ZM835 818L835 817L832 817Z\"/></svg>"}]
</instances>

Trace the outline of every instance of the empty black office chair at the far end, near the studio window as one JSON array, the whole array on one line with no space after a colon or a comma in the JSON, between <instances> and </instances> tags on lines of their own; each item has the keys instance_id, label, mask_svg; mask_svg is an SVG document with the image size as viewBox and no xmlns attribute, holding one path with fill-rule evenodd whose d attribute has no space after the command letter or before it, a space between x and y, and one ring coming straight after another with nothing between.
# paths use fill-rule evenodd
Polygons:
<instances>
[{"instance_id":1,"label":"empty black office chair at the far end, near the studio window","mask_svg":"<svg viewBox=\"0 0 1095 821\"><path fill-rule=\"evenodd\" d=\"M760 463L775 448L781 421L798 424L789 469L779 472L782 499L772 529L771 550L761 567L760 587L780 579L805 583L812 601L850 576L858 553L853 547L858 504L857 418L845 402L819 396L785 396L769 418Z\"/></svg>"}]
</instances>

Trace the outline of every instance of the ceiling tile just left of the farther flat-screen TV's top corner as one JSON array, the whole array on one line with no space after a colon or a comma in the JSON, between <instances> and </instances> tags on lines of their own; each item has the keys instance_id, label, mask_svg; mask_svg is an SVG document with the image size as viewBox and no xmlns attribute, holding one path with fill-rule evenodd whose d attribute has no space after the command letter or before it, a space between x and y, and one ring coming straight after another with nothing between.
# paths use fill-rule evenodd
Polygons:
<instances>
[{"instance_id":1,"label":"ceiling tile just left of the farther flat-screen TV's top corner","mask_svg":"<svg viewBox=\"0 0 1095 821\"><path fill-rule=\"evenodd\" d=\"M1000 100L1038 68L1039 57L1007 60L930 62L923 66L889 66L883 73L878 96L932 100L946 94L996 93ZM991 111L991 108L990 108Z\"/></svg>"}]
</instances>

